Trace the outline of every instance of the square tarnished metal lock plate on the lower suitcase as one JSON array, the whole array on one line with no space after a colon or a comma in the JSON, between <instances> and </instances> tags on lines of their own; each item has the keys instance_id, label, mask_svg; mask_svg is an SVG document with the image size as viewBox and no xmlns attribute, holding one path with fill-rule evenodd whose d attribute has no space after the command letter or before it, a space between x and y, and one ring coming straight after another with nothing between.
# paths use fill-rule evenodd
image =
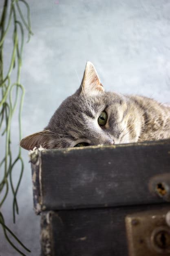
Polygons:
<instances>
[{"instance_id":1,"label":"square tarnished metal lock plate on the lower suitcase","mask_svg":"<svg viewBox=\"0 0 170 256\"><path fill-rule=\"evenodd\" d=\"M129 256L170 256L170 227L166 223L169 209L126 216Z\"/></svg>"}]
</instances>

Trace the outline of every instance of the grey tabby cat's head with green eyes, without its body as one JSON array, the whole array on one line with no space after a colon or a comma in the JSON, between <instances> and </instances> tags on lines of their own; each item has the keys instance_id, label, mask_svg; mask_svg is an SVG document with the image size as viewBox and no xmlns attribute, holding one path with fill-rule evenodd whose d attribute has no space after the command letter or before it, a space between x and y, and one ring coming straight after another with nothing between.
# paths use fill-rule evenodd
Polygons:
<instances>
[{"instance_id":1,"label":"grey tabby cat's head with green eyes, without its body","mask_svg":"<svg viewBox=\"0 0 170 256\"><path fill-rule=\"evenodd\" d=\"M62 102L43 131L25 137L20 146L30 150L40 145L67 148L128 143L128 108L126 97L104 91L95 67L87 62L80 88Z\"/></svg>"}]
</instances>

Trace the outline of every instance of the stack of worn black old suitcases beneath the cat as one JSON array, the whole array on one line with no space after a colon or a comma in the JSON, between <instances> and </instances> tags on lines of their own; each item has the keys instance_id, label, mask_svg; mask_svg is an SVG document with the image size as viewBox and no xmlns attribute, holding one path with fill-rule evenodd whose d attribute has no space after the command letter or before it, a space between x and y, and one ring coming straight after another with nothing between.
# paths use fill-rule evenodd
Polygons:
<instances>
[{"instance_id":1,"label":"stack of worn black old suitcases beneath the cat","mask_svg":"<svg viewBox=\"0 0 170 256\"><path fill-rule=\"evenodd\" d=\"M170 139L30 159L42 256L170 255Z\"/></svg>"}]
</instances>

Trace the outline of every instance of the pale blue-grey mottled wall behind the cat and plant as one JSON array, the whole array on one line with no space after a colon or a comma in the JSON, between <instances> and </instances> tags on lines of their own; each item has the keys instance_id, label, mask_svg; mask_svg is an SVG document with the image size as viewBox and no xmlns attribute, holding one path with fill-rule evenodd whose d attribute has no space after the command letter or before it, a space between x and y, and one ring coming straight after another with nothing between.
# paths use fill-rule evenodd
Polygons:
<instances>
[{"instance_id":1,"label":"pale blue-grey mottled wall behind the cat and plant","mask_svg":"<svg viewBox=\"0 0 170 256\"><path fill-rule=\"evenodd\" d=\"M21 81L26 89L23 136L42 130L59 104L79 87L91 61L106 90L142 94L170 102L170 2L168 0L29 0L34 36L24 45ZM0 2L2 10L2 1ZM24 10L24 8L23 8ZM11 37L4 60L11 56ZM18 148L18 120L13 119L13 154ZM3 148L1 142L1 150ZM18 192L20 215L12 223L11 196L3 206L6 223L38 256L40 217L32 202L31 167ZM18 169L13 173L17 180ZM18 255L0 229L0 256Z\"/></svg>"}]
</instances>

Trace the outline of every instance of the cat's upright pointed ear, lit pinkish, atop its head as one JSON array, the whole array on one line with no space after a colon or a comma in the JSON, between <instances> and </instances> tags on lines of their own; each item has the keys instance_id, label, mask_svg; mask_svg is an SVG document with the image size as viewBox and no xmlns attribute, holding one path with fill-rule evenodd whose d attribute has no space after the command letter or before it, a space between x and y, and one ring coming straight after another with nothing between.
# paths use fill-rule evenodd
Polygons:
<instances>
[{"instance_id":1,"label":"cat's upright pointed ear, lit pinkish, atop its head","mask_svg":"<svg viewBox=\"0 0 170 256\"><path fill-rule=\"evenodd\" d=\"M104 88L100 82L97 71L95 70L95 67L90 61L88 61L86 64L84 76L82 79L82 88L85 94L104 92Z\"/></svg>"}]
</instances>

